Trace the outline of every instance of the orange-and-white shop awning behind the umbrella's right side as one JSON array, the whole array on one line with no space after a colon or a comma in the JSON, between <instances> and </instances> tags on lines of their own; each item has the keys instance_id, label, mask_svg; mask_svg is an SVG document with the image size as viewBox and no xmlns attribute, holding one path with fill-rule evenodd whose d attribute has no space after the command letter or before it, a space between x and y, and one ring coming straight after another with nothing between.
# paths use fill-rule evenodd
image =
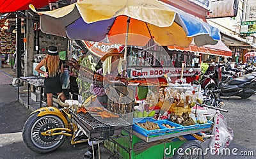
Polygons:
<instances>
[{"instance_id":1,"label":"orange-and-white shop awning behind the umbrella's right side","mask_svg":"<svg viewBox=\"0 0 256 159\"><path fill-rule=\"evenodd\" d=\"M189 47L178 47L178 46L168 46L169 50L177 50L177 51L190 51L190 52L198 52L202 54L210 54L215 56L225 56L232 57L232 50L228 49L228 47L221 41L218 41L216 45L204 45L202 47L196 47L195 43L192 42Z\"/></svg>"}]
</instances>

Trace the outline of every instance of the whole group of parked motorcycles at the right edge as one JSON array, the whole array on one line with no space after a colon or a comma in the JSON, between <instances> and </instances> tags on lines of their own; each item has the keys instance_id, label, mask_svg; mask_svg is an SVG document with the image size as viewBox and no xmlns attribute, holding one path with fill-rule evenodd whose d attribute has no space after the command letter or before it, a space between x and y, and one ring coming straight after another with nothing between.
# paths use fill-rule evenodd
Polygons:
<instances>
[{"instance_id":1,"label":"whole group of parked motorcycles at the right edge","mask_svg":"<svg viewBox=\"0 0 256 159\"><path fill-rule=\"evenodd\" d=\"M245 68L247 69L247 68ZM200 83L205 95L220 99L220 96L239 96L249 98L256 93L256 72L234 69L230 64L212 63L202 77ZM195 73L200 76L200 72ZM196 81L194 81L196 82Z\"/></svg>"}]
</instances>

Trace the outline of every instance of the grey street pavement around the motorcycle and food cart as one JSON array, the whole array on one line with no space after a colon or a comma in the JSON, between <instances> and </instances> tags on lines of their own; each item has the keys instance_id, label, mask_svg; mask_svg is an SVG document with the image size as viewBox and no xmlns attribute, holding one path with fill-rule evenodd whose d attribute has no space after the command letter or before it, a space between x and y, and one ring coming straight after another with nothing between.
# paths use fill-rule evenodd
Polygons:
<instances>
[{"instance_id":1,"label":"grey street pavement around the motorcycle and food cart","mask_svg":"<svg viewBox=\"0 0 256 159\"><path fill-rule=\"evenodd\" d=\"M22 127L28 119L31 110L17 102L17 87L10 84L14 78L7 71L0 69L0 159L20 159L20 158L83 158L83 154L88 148L88 144L77 144L72 146L68 140L56 151L49 154L38 154L30 151L22 141ZM227 125L234 130L234 140L229 149L238 149L238 155L205 155L205 158L256 158L256 95L248 99L238 97L223 98L225 109L228 113L223 113L227 118ZM202 144L207 148L207 142ZM100 146L101 158L111 158L111 155ZM253 153L247 156L239 155L243 153Z\"/></svg>"}]
</instances>

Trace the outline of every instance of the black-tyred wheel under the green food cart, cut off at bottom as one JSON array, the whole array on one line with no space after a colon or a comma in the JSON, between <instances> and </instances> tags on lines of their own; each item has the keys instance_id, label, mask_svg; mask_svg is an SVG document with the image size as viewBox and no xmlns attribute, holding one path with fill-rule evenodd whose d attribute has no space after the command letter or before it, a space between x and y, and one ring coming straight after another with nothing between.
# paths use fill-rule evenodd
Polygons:
<instances>
[{"instance_id":1,"label":"black-tyred wheel under the green food cart, cut off at bottom","mask_svg":"<svg viewBox=\"0 0 256 159\"><path fill-rule=\"evenodd\" d=\"M198 142L189 140L187 142L184 142L184 144L182 144L178 149L182 149L182 151L179 151L179 153L176 151L172 159L204 159L202 147L200 146L200 144L198 144Z\"/></svg>"}]
</instances>

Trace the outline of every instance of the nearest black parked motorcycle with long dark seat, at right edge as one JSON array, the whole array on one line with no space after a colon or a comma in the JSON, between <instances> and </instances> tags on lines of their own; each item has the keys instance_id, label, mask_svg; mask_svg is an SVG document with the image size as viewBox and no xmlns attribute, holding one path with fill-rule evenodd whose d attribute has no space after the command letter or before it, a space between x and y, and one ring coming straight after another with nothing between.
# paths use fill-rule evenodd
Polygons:
<instances>
[{"instance_id":1,"label":"nearest black parked motorcycle with long dark seat, at right edge","mask_svg":"<svg viewBox=\"0 0 256 159\"><path fill-rule=\"evenodd\" d=\"M202 88L214 89L218 91L220 96L240 96L241 98L249 98L256 92L255 76L246 75L221 82L221 66L222 64L211 64L200 80ZM208 88L209 87L209 88Z\"/></svg>"}]
</instances>

